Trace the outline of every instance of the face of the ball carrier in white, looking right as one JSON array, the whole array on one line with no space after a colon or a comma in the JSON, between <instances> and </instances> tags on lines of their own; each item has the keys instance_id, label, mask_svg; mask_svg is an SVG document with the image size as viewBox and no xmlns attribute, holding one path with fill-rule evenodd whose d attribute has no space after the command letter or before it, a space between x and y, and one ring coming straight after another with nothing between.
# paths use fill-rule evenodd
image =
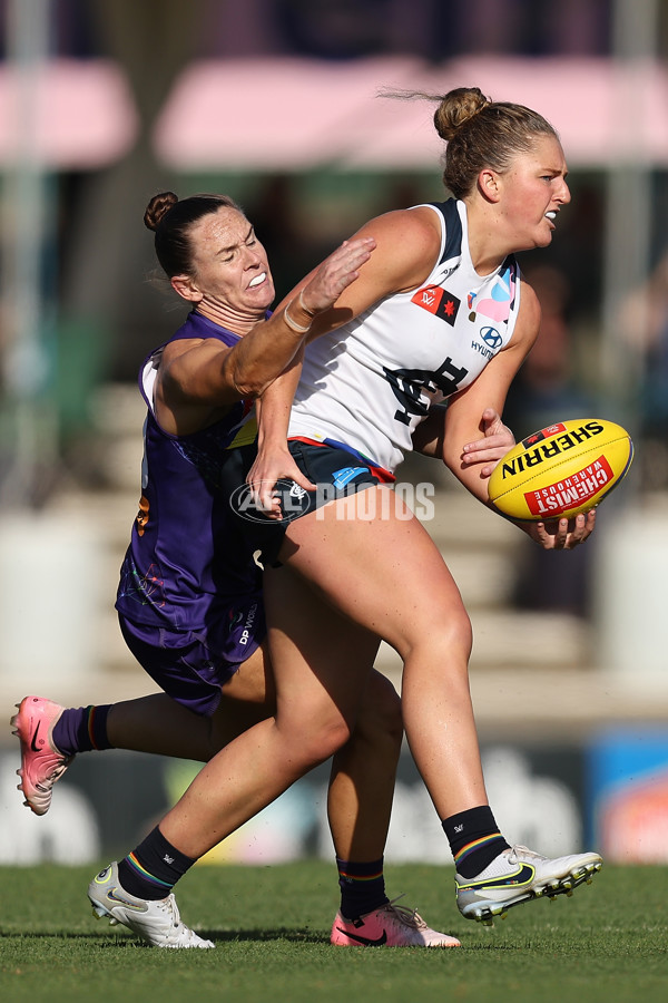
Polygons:
<instances>
[{"instance_id":1,"label":"face of the ball carrier in white, looking right","mask_svg":"<svg viewBox=\"0 0 668 1003\"><path fill-rule=\"evenodd\" d=\"M559 210L570 202L567 173L561 144L553 136L542 136L501 176L500 208L514 251L547 247L551 242Z\"/></svg>"}]
</instances>

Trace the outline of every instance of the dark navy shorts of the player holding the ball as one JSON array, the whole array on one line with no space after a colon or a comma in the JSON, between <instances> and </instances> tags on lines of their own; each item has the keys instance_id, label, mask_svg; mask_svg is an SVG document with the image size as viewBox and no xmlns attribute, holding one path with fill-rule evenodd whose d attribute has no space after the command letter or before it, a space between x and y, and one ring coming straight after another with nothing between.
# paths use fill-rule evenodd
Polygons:
<instances>
[{"instance_id":1,"label":"dark navy shorts of the player holding the ball","mask_svg":"<svg viewBox=\"0 0 668 1003\"><path fill-rule=\"evenodd\" d=\"M274 493L281 498L281 519L267 518L262 509L253 505L245 478L255 459L255 447L232 450L236 454L235 460L226 462L226 479L230 478L229 501L236 525L248 546L259 552L259 559L265 566L277 566L286 529L294 519L315 512L327 501L393 480L392 475L382 467L338 446L289 439L288 448L299 470L316 485L316 489L306 490L288 478L277 480Z\"/></svg>"}]
</instances>

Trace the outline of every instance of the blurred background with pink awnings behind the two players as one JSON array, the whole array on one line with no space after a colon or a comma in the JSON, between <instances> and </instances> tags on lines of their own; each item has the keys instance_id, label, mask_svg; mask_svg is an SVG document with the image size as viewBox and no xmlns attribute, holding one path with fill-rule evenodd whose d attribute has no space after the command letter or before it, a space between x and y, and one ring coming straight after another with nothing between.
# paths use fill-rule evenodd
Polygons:
<instances>
[{"instance_id":1,"label":"blurred background with pink awnings behind the two players","mask_svg":"<svg viewBox=\"0 0 668 1003\"><path fill-rule=\"evenodd\" d=\"M544 851L668 860L666 0L0 0L0 701L150 692L112 610L139 489L135 376L183 311L151 281L148 199L226 192L281 296L370 216L442 196L429 105L480 86L559 130L572 203L522 255L543 327L508 402L518 437L626 425L637 456L586 548L542 554L434 483L429 529L474 626L492 801ZM158 286L156 289L156 285ZM480 509L480 510L479 510ZM380 666L400 686L383 650ZM0 732L0 861L134 840L191 765L80 757L36 820ZM216 859L330 853L316 771ZM389 858L443 859L402 759Z\"/></svg>"}]
</instances>

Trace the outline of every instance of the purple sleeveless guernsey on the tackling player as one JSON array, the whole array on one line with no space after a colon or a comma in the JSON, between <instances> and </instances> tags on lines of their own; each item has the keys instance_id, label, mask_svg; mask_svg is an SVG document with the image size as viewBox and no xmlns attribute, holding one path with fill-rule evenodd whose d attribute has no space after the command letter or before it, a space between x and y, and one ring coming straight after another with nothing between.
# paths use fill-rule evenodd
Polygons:
<instances>
[{"instance_id":1,"label":"purple sleeveless guernsey on the tackling player","mask_svg":"<svg viewBox=\"0 0 668 1003\"><path fill-rule=\"evenodd\" d=\"M239 340L195 312L170 341L186 338L216 338L230 347ZM203 631L230 600L262 587L262 573L230 525L228 501L218 490L226 450L252 441L255 422L244 423L252 403L239 401L220 421L193 435L161 429L153 387L164 349L151 352L139 370L148 408L141 501L120 569L116 608L138 624Z\"/></svg>"}]
</instances>

